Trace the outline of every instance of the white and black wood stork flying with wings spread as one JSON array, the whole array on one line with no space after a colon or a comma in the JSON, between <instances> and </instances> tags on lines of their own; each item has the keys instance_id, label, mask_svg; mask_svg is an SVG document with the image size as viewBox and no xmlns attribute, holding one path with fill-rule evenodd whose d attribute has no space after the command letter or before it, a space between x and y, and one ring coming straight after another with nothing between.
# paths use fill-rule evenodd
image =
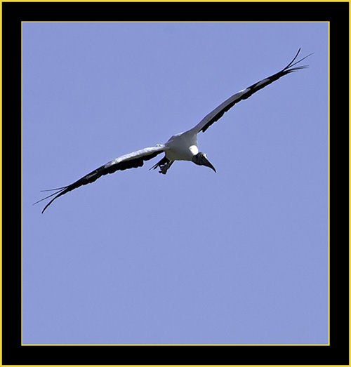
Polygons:
<instances>
[{"instance_id":1,"label":"white and black wood stork flying with wings spread","mask_svg":"<svg viewBox=\"0 0 351 367\"><path fill-rule=\"evenodd\" d=\"M191 128L190 130L185 131L184 133L173 135L164 144L141 149L133 153L125 154L124 156L119 156L118 158L113 159L107 164L104 164L103 166L95 169L91 173L88 173L88 175L85 175L76 182L73 182L71 185L58 187L57 189L44 190L55 192L36 202L39 203L40 201L54 196L53 199L51 199L51 201L46 204L41 213L44 213L44 211L46 211L46 208L48 208L48 206L55 199L58 199L58 197L64 194L67 194L67 192L70 192L88 183L94 182L95 180L98 180L98 178L100 178L102 175L107 175L107 173L124 171L128 168L141 167L143 166L144 161L149 161L150 159L161 153L164 153L164 157L159 162L157 162L157 164L152 166L152 168L159 168L159 173L162 173L164 175L166 175L168 169L171 168L174 161L192 161L194 162L194 164L209 167L216 172L216 169L213 167L210 161L208 161L206 154L199 152L199 147L197 145L197 134L200 131L204 133L214 122L220 119L220 117L222 117L223 114L227 112L230 108L232 108L237 102L240 102L241 100L246 100L251 95L253 95L253 93L260 91L260 89L265 88L265 86L268 86L269 84L273 83L273 81L278 80L286 74L296 72L300 69L305 69L307 67L306 65L296 65L298 65L301 61L305 60L305 58L308 58L312 54L307 55L304 58L296 61L299 53L300 48L298 49L298 52L296 53L293 60L289 62L289 65L286 65L286 67L284 67L284 69L282 69L280 72L268 76L267 78L258 81L252 86L249 86L248 88L235 93L230 98L225 100L221 105L219 105L216 109L213 109L212 112L207 114L204 119L199 122L199 124Z\"/></svg>"}]
</instances>

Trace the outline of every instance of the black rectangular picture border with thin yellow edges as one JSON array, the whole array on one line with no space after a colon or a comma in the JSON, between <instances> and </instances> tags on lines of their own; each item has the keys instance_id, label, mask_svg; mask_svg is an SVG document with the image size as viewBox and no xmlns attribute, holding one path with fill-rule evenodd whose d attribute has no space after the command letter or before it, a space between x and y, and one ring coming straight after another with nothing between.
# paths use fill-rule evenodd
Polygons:
<instances>
[{"instance_id":1,"label":"black rectangular picture border with thin yellow edges","mask_svg":"<svg viewBox=\"0 0 351 367\"><path fill-rule=\"evenodd\" d=\"M349 365L349 248L333 249L330 288L331 344L324 346L41 346L21 345L21 226L14 183L21 182L22 21L325 21L330 22L331 121L340 146L348 138L349 4L347 2L6 2L2 9L2 363L5 365ZM336 86L338 82L338 86ZM332 92L333 91L333 92ZM334 94L335 93L335 94ZM334 97L335 95L335 97ZM334 100L335 98L335 100ZM335 102L334 102L335 101ZM338 116L336 116L336 113ZM333 117L335 116L335 120ZM344 120L346 120L344 122ZM340 122L341 121L341 122ZM345 126L345 131L344 127ZM347 138L345 138L347 136ZM348 155L347 155L348 156ZM348 158L347 158L348 160ZM18 178L13 180L13 178ZM348 180L347 180L348 183ZM19 188L19 192L21 189ZM348 192L348 190L347 190ZM12 195L11 195L12 196ZM348 215L346 215L348 219ZM348 221L347 221L348 227ZM338 326L338 331L336 331Z\"/></svg>"}]
</instances>

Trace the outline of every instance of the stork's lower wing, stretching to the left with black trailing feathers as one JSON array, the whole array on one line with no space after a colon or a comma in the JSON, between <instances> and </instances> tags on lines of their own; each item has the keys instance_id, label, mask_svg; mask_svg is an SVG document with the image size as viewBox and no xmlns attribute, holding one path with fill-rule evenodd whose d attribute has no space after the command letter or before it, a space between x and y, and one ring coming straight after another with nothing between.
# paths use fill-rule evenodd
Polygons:
<instances>
[{"instance_id":1,"label":"stork's lower wing, stretching to the left with black trailing feathers","mask_svg":"<svg viewBox=\"0 0 351 367\"><path fill-rule=\"evenodd\" d=\"M46 204L43 211L41 212L41 213L44 213L44 211L46 211L46 208L48 208L48 206L55 199L58 199L58 197L64 194L67 194L67 192L70 192L88 183L94 182L95 180L98 180L98 178L100 178L102 175L107 175L107 173L114 173L116 171L124 171L128 168L141 167L143 166L144 161L148 161L149 159L154 158L158 154L161 154L162 152L164 152L164 149L165 149L164 145L157 145L156 147L140 149L137 152L125 154L124 156L119 156L118 158L113 159L112 161L108 162L104 166L96 168L93 172L88 173L88 175L85 175L84 177L80 178L76 182L73 182L71 185L64 186L64 187L58 187L57 189L44 190L44 191L55 191L55 192L49 196L44 197L44 199L41 199L34 204L40 203L41 201L48 199L49 197L55 195L55 197Z\"/></svg>"}]
</instances>

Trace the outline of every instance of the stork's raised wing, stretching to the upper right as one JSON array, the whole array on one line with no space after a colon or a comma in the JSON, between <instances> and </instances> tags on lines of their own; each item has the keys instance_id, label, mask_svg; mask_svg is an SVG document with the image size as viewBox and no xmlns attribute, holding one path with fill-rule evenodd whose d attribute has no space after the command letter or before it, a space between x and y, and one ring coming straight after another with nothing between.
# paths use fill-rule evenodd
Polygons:
<instances>
[{"instance_id":1,"label":"stork's raised wing, stretching to the upper right","mask_svg":"<svg viewBox=\"0 0 351 367\"><path fill-rule=\"evenodd\" d=\"M223 102L221 105L219 105L216 109L213 109L212 112L210 112L207 116L202 119L197 126L192 128L192 131L195 131L196 133L199 133L202 131L203 133L220 117L223 116L225 112L227 112L229 109L231 109L237 102L240 102L241 100L246 100L246 98L251 97L253 93L256 93L257 91L260 91L260 89L265 88L265 86L268 86L269 84L273 83L273 81L278 80L279 78L282 78L282 76L289 74L291 72L296 72L300 69L305 69L307 66L301 65L296 66L301 61L305 60L305 58L308 58L308 56L305 56L305 58L302 58L298 61L295 61L298 57L298 54L300 53L300 48L298 49L298 53L296 53L295 58L291 60L289 65L286 65L284 69L282 69L280 72L277 72L276 74L273 74L271 76L268 76L267 78L258 81L257 83L253 84L252 86L249 86L248 88L244 89L243 91L239 91L238 93L235 93L232 95L232 97L228 98Z\"/></svg>"}]
</instances>

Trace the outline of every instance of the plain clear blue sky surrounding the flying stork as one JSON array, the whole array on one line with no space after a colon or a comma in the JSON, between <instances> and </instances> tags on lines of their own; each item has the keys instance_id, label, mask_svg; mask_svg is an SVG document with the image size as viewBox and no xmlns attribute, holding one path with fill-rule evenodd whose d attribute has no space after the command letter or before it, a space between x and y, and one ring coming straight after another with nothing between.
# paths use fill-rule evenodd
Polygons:
<instances>
[{"instance_id":1,"label":"plain clear blue sky surrounding the flying stork","mask_svg":"<svg viewBox=\"0 0 351 367\"><path fill-rule=\"evenodd\" d=\"M22 25L23 344L328 344L326 22ZM43 214L41 189L199 133L217 173L107 175Z\"/></svg>"}]
</instances>

